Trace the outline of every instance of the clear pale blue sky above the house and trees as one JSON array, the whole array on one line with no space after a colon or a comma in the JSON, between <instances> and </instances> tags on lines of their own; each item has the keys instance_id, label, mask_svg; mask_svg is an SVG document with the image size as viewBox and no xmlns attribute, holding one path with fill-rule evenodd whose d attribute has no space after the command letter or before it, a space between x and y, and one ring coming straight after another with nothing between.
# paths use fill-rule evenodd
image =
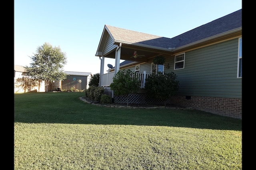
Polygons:
<instances>
[{"instance_id":1,"label":"clear pale blue sky above the house and trees","mask_svg":"<svg viewBox=\"0 0 256 170\"><path fill-rule=\"evenodd\" d=\"M242 0L14 0L14 64L29 66L47 42L66 53L65 71L96 74L105 24L172 38L240 9Z\"/></svg>"}]
</instances>

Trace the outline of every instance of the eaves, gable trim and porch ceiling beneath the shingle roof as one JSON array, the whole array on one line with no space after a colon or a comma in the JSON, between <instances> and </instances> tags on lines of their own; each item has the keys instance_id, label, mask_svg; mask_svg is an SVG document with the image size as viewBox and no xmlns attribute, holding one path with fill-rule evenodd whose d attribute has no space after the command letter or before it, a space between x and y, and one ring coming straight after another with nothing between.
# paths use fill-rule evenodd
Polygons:
<instances>
[{"instance_id":1,"label":"eaves, gable trim and porch ceiling beneath the shingle roof","mask_svg":"<svg viewBox=\"0 0 256 170\"><path fill-rule=\"evenodd\" d=\"M98 50L95 56L99 56L102 57L102 50L104 48L105 41L106 41L106 37L111 35L111 33L109 32L109 30L107 29L107 27L104 27L104 31L102 33L102 37L100 40L100 44L98 46ZM224 33L220 33L218 35L212 36L212 37L208 37L206 39L202 39L200 41L196 41L194 43L190 43L187 45L184 45L182 47L178 47L178 48L161 48L161 47L155 47L155 46L150 46L150 45L143 45L140 43L129 43L129 42L125 42L125 41L120 41L120 40L113 40L113 45L116 45L115 48L113 48L112 50L108 51L107 54L104 55L104 57L107 58L115 58L115 53L116 53L116 48L118 47L118 45L120 43L122 43L122 47L121 47L121 60L128 60L128 61L136 61L136 62L148 62L150 60L152 60L152 58L154 58L155 56L158 55L174 55L176 53L180 53L180 52L186 52L189 51L191 49L197 49L197 48L201 48L201 47L205 47L208 45L212 45L214 43L218 43L220 41L226 41L228 39L234 39L236 37L239 37L242 35L242 27L239 27L237 29L233 29L230 31L226 31ZM134 58L132 57L134 51L137 51L137 53L139 55L145 55L145 57L142 58Z\"/></svg>"}]
</instances>

